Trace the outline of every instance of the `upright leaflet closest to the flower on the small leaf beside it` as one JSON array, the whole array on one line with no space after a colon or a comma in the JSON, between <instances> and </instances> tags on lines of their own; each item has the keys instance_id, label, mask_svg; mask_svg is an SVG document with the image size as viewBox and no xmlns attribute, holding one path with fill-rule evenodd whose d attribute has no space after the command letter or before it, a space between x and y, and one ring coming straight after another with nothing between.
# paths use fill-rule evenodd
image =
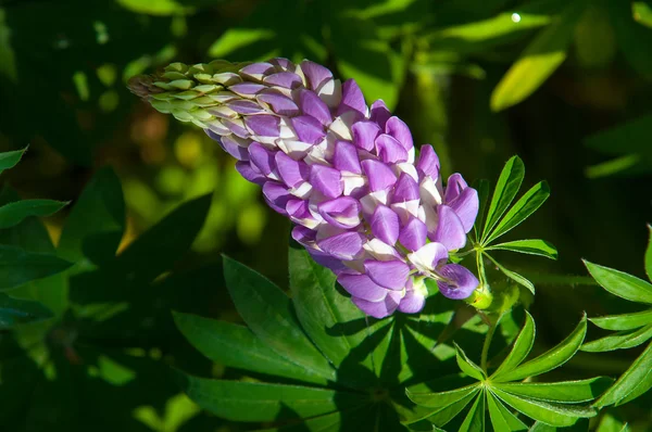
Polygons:
<instances>
[{"instance_id":1,"label":"upright leaflet closest to the flower on the small leaf beside it","mask_svg":"<svg viewBox=\"0 0 652 432\"><path fill-rule=\"evenodd\" d=\"M505 213L512 201L521 189L521 183L525 178L525 165L518 156L512 156L503 167L496 183L493 190L493 196L491 196L491 204L487 212L487 220L485 221L485 228L482 229L482 243L486 244L485 240L500 220L500 217Z\"/></svg>"}]
</instances>

